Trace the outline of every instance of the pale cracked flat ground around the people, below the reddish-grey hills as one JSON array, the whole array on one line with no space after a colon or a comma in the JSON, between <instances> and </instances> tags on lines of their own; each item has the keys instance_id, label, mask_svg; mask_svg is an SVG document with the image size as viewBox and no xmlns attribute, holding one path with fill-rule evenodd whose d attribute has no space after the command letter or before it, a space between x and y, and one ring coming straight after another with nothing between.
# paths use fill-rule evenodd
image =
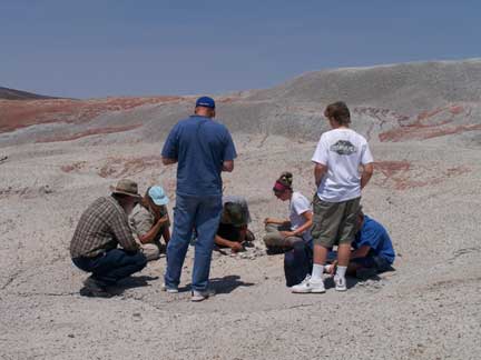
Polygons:
<instances>
[{"instance_id":1,"label":"pale cracked flat ground around the people, below the reddish-grey hills","mask_svg":"<svg viewBox=\"0 0 481 360\"><path fill-rule=\"evenodd\" d=\"M395 272L350 279L337 293L296 296L282 256L262 244L244 256L216 253L217 296L189 301L160 290L165 258L121 283L112 299L78 294L86 274L68 246L82 210L129 177L165 186L161 142L115 134L0 148L1 359L478 359L481 353L479 131L424 141L374 142L377 171L363 196L367 214L390 230ZM120 140L119 140L120 139ZM282 170L306 196L314 142L236 136L239 158L226 193L245 196L253 230L287 206L269 189ZM332 284L331 284L332 287Z\"/></svg>"}]
</instances>

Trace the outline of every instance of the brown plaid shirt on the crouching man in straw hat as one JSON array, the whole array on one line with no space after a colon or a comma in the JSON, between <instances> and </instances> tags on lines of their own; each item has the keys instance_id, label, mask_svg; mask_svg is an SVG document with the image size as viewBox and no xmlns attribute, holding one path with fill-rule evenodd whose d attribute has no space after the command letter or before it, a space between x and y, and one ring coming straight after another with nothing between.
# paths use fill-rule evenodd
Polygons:
<instances>
[{"instance_id":1,"label":"brown plaid shirt on the crouching man in straw hat","mask_svg":"<svg viewBox=\"0 0 481 360\"><path fill-rule=\"evenodd\" d=\"M112 197L94 201L80 217L70 242L72 258L94 258L120 244L127 251L137 251L127 214Z\"/></svg>"}]
</instances>

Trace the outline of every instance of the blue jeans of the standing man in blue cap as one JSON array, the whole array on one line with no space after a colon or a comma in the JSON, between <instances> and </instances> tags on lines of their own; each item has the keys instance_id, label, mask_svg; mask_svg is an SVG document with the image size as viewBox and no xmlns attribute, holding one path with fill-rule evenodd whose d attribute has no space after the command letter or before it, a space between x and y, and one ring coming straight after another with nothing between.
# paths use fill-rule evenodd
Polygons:
<instances>
[{"instance_id":1,"label":"blue jeans of the standing man in blue cap","mask_svg":"<svg viewBox=\"0 0 481 360\"><path fill-rule=\"evenodd\" d=\"M193 290L204 291L208 287L214 238L220 222L222 196L186 196L177 193L174 209L174 231L167 246L167 288L177 288L193 229L196 229Z\"/></svg>"}]
</instances>

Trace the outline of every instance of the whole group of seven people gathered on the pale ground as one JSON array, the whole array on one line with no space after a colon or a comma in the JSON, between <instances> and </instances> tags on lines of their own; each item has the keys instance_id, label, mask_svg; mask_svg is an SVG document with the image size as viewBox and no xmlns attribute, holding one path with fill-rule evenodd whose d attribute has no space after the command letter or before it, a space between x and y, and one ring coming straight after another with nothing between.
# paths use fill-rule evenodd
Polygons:
<instances>
[{"instance_id":1,"label":"whole group of seven people gathered on the pale ground","mask_svg":"<svg viewBox=\"0 0 481 360\"><path fill-rule=\"evenodd\" d=\"M122 179L111 196L94 201L82 213L70 243L72 262L90 272L80 293L110 297L108 287L166 252L163 289L178 292L189 244L195 246L192 300L212 294L208 278L215 247L233 252L252 246L251 214L242 197L223 197L222 172L234 170L237 157L227 128L214 121L215 101L197 99L195 113L179 121L161 150L165 166L177 163L173 232L160 186L138 192ZM332 130L322 134L312 161L317 186L308 201L293 189L293 174L283 172L273 191L288 201L288 219L265 219L268 253L285 253L286 283L295 293L324 292L324 272L334 274L335 289L346 290L346 273L387 270L394 250L385 229L361 210L361 190L373 173L366 140L349 128L344 102L327 106ZM333 248L337 251L333 252Z\"/></svg>"}]
</instances>

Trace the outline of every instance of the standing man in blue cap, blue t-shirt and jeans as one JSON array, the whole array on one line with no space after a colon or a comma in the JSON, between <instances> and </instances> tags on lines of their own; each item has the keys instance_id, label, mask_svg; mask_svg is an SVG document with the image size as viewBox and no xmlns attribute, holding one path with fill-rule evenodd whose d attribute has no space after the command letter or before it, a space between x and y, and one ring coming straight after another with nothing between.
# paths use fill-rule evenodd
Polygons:
<instances>
[{"instance_id":1,"label":"standing man in blue cap, blue t-shirt and jeans","mask_svg":"<svg viewBox=\"0 0 481 360\"><path fill-rule=\"evenodd\" d=\"M197 99L195 114L173 128L161 151L164 164L178 163L165 290L178 291L181 268L195 228L193 301L202 301L209 294L212 251L223 210L220 172L233 171L237 157L230 133L225 126L215 122L214 117L214 100L208 97Z\"/></svg>"}]
</instances>

